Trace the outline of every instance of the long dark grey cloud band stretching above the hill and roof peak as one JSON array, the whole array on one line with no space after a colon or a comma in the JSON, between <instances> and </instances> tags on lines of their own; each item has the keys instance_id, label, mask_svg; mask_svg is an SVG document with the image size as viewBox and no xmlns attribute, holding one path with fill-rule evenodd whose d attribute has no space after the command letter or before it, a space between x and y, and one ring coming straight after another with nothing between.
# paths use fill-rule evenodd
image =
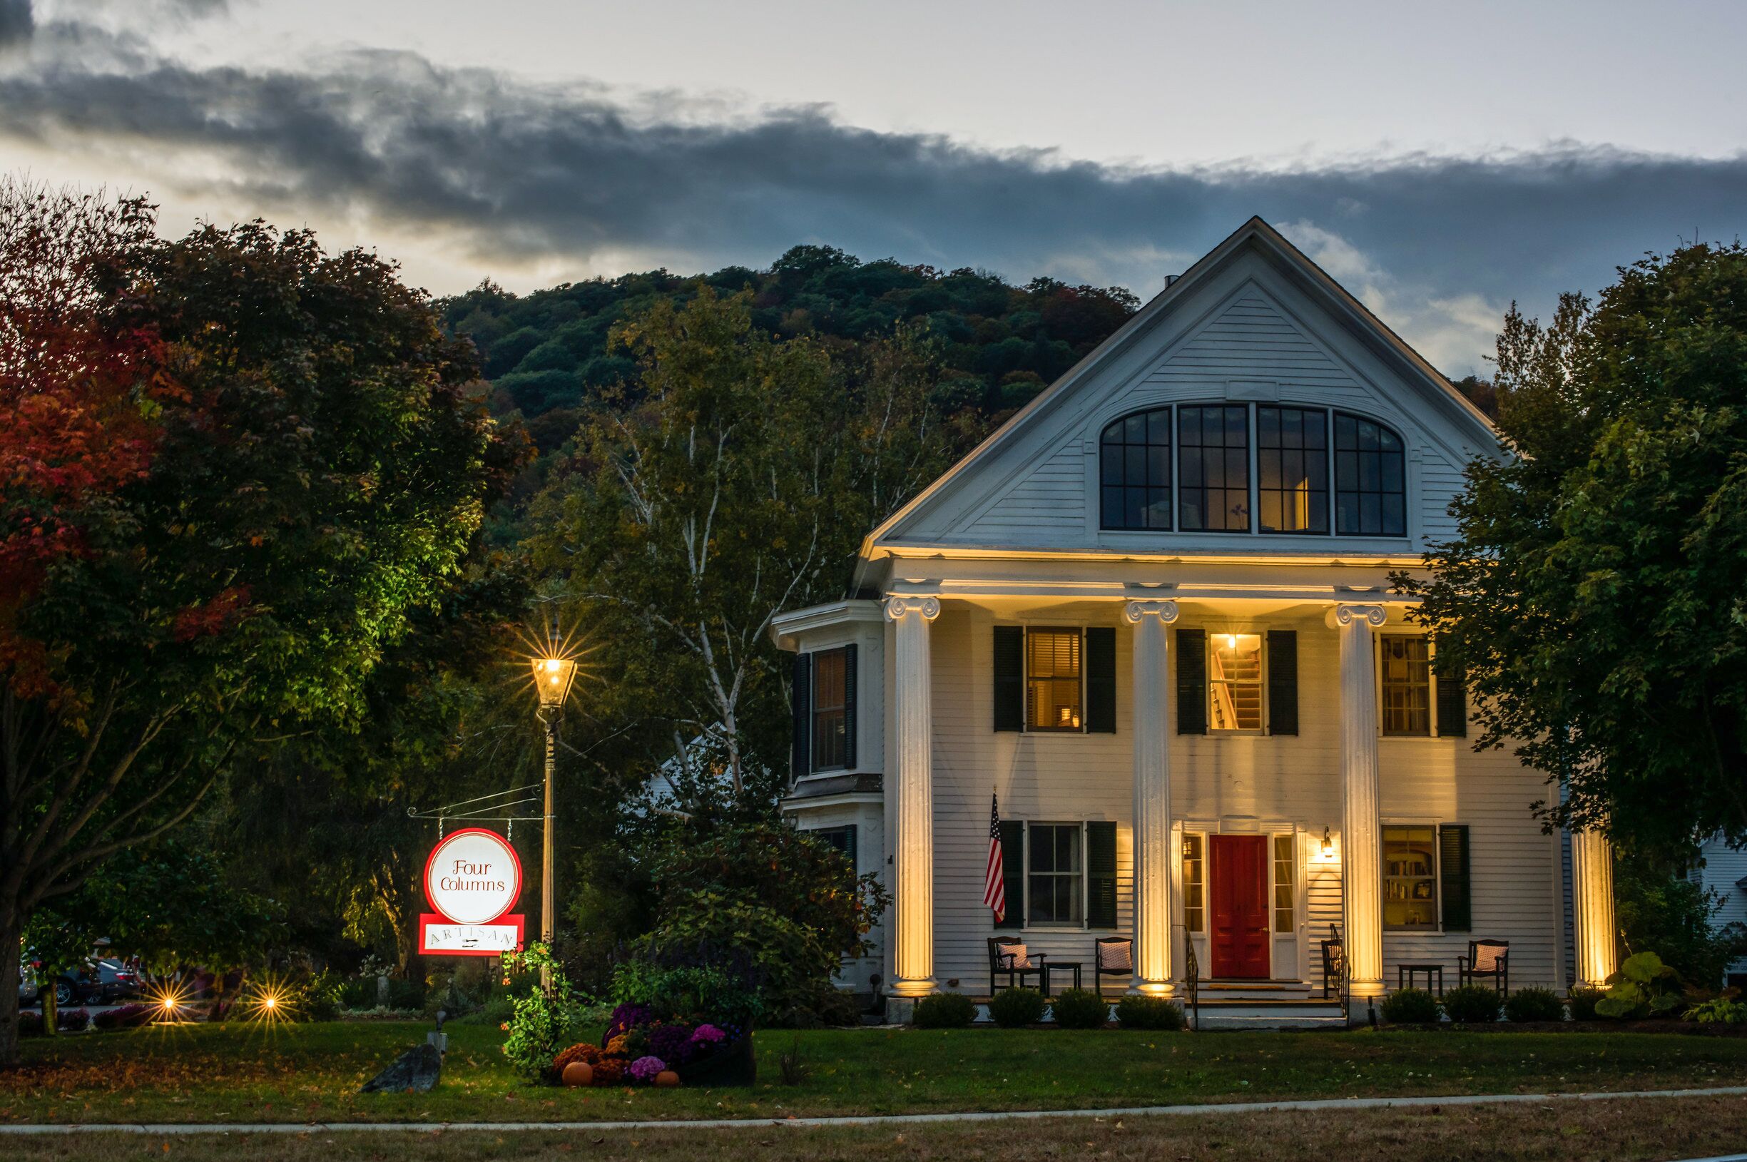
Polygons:
<instances>
[{"instance_id":1,"label":"long dark grey cloud band stretching above the hill and roof peak","mask_svg":"<svg viewBox=\"0 0 1747 1162\"><path fill-rule=\"evenodd\" d=\"M1314 169L1123 169L856 129L826 108L706 119L683 100L538 87L405 52L307 72L91 59L40 54L0 73L0 136L197 149L229 157L225 187L264 210L362 211L475 259L563 257L578 271L762 264L828 241L1146 295L1260 213L1447 360L1478 349L1513 297L1544 308L1644 250L1733 238L1747 218L1740 156L1565 143Z\"/></svg>"}]
</instances>

